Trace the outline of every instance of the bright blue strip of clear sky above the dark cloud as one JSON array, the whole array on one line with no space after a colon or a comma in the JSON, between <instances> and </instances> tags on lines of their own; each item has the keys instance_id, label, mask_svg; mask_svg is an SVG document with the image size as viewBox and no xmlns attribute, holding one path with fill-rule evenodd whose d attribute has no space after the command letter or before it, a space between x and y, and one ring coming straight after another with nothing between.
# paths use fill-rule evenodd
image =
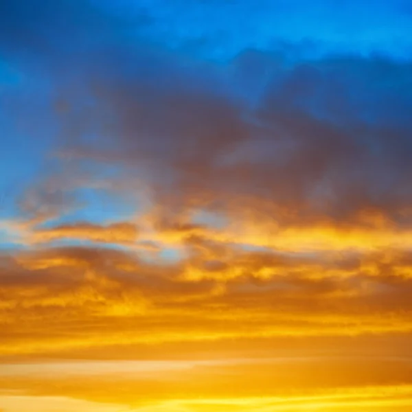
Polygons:
<instances>
[{"instance_id":1,"label":"bright blue strip of clear sky above the dark cloud","mask_svg":"<svg viewBox=\"0 0 412 412\"><path fill-rule=\"evenodd\" d=\"M281 42L317 43L325 52L409 57L412 16L404 1L104 0L113 13L146 16L139 36L171 49L226 61L242 50Z\"/></svg>"}]
</instances>

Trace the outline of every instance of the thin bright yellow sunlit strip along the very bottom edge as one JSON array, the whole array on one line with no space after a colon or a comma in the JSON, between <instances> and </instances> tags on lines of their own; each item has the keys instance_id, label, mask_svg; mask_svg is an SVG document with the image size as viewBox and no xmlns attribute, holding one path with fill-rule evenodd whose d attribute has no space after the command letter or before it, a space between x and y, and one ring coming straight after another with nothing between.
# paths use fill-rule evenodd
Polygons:
<instances>
[{"instance_id":1,"label":"thin bright yellow sunlit strip along the very bottom edge","mask_svg":"<svg viewBox=\"0 0 412 412\"><path fill-rule=\"evenodd\" d=\"M146 403L147 401L144 401ZM176 399L151 400L148 406L130 407L119 404L102 404L85 400L74 400L63 397L45 396L1 396L0 407L9 412L119 412L123 410L133 412L269 412L269 411L353 411L362 408L370 411L407 411L412 406L411 387L375 387L336 390L332 393L323 393L314 396L285 396L260 398L209 398L202 400Z\"/></svg>"}]
</instances>

